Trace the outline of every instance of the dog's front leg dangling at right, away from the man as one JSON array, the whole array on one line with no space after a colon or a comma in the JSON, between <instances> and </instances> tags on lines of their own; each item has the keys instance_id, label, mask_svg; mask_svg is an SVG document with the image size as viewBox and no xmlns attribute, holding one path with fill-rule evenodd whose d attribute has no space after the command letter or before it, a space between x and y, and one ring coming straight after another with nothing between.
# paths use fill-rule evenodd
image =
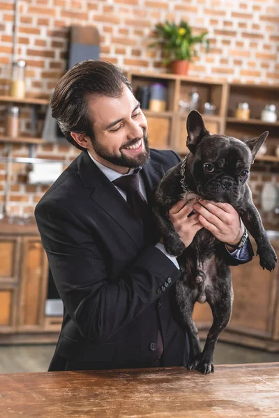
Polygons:
<instances>
[{"instance_id":1,"label":"dog's front leg dangling at right, away from the man","mask_svg":"<svg viewBox=\"0 0 279 418\"><path fill-rule=\"evenodd\" d=\"M262 219L254 203L248 202L245 208L238 210L243 224L246 226L252 237L257 243L257 254L259 255L259 264L271 272L276 267L277 256L271 242L269 241Z\"/></svg>"}]
</instances>

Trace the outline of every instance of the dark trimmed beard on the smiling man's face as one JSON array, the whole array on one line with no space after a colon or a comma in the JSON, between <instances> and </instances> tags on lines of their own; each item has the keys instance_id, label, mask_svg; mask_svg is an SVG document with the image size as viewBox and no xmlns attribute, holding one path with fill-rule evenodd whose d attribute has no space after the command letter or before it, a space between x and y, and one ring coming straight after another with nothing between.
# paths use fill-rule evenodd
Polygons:
<instances>
[{"instance_id":1,"label":"dark trimmed beard on the smiling man's face","mask_svg":"<svg viewBox=\"0 0 279 418\"><path fill-rule=\"evenodd\" d=\"M116 166L127 167L128 169L137 169L146 164L146 162L149 162L150 159L150 149L147 135L143 135L144 150L142 150L142 153L140 153L139 155L136 155L135 157L129 157L128 155L123 153L122 148L125 148L126 146L133 146L140 139L141 138L135 138L133 142L130 141L129 144L121 146L121 148L119 149L121 155L109 153L102 144L96 141L96 139L93 139L93 141L91 142L93 150L96 152L97 155L99 155L99 157L102 157L104 160L107 160Z\"/></svg>"}]
</instances>

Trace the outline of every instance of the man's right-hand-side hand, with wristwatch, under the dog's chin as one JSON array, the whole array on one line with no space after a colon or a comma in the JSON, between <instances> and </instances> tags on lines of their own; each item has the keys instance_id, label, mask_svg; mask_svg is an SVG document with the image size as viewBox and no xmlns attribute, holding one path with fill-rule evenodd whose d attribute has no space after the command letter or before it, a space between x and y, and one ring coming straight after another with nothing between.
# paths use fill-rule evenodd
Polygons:
<instances>
[{"instance_id":1,"label":"man's right-hand-side hand, with wristwatch, under the dog's chin","mask_svg":"<svg viewBox=\"0 0 279 418\"><path fill-rule=\"evenodd\" d=\"M244 225L232 205L201 199L198 203L194 203L193 208L199 214L197 217L199 224L213 233L218 240L232 245L239 244L244 233Z\"/></svg>"}]
</instances>

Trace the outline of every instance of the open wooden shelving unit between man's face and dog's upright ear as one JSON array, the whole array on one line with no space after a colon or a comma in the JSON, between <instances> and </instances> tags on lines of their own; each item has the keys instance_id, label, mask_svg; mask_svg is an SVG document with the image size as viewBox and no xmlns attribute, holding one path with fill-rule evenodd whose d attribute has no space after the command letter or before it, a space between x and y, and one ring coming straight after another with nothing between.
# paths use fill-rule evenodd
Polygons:
<instances>
[{"instance_id":1,"label":"open wooden shelving unit between man's face and dog's upright ear","mask_svg":"<svg viewBox=\"0 0 279 418\"><path fill-rule=\"evenodd\" d=\"M174 74L128 72L128 81L136 93L137 88L160 82L167 86L167 111L156 112L142 109L149 125L149 143L153 148L173 149L188 153L186 147L186 114L179 111L179 100L188 98L193 87L197 87L201 102L211 102L217 107L217 114L204 116L212 133L224 132L227 84L203 81Z\"/></svg>"}]
</instances>

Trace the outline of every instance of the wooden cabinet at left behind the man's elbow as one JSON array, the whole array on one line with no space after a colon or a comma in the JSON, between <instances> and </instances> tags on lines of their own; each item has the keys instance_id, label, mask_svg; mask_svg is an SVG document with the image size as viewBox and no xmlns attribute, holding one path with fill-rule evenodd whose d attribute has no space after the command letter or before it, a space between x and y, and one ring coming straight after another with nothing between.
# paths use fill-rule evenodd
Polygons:
<instances>
[{"instance_id":1,"label":"wooden cabinet at left behind the man's elbow","mask_svg":"<svg viewBox=\"0 0 279 418\"><path fill-rule=\"evenodd\" d=\"M36 224L0 226L0 343L54 343L61 317L45 316L48 263Z\"/></svg>"}]
</instances>

